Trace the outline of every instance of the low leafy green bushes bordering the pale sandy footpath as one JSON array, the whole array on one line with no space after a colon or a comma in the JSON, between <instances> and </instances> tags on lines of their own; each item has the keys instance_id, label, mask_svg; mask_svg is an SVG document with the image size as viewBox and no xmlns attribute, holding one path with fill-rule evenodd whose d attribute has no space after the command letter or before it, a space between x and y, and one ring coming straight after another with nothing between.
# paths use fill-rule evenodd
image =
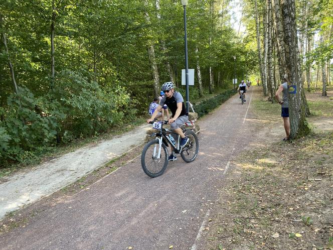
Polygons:
<instances>
[{"instance_id":1,"label":"low leafy green bushes bordering the pale sandy footpath","mask_svg":"<svg viewBox=\"0 0 333 250\"><path fill-rule=\"evenodd\" d=\"M52 90L36 97L25 87L0 108L0 167L9 162L30 162L59 142L96 135L130 118L136 110L117 84L88 81L79 72L63 71Z\"/></svg>"}]
</instances>

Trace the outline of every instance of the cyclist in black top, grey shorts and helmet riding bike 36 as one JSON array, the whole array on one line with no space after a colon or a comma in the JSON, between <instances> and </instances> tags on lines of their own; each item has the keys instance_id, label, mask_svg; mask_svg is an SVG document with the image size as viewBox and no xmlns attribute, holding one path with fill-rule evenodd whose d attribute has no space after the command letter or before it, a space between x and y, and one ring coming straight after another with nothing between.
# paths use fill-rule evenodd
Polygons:
<instances>
[{"instance_id":1,"label":"cyclist in black top, grey shorts and helmet riding bike 36","mask_svg":"<svg viewBox=\"0 0 333 250\"><path fill-rule=\"evenodd\" d=\"M165 95L160 100L159 105L151 115L150 119L147 119L147 123L152 121L157 116L158 112L161 111L163 105L166 104L172 112L172 117L169 119L171 129L182 138L180 142L180 147L182 148L189 142L189 138L184 135L180 126L184 125L185 122L189 120L189 113L186 110L182 94L175 91L172 82L165 82L162 85L162 91ZM175 160L177 160L177 157L174 154L171 154L169 156L169 161Z\"/></svg>"}]
</instances>

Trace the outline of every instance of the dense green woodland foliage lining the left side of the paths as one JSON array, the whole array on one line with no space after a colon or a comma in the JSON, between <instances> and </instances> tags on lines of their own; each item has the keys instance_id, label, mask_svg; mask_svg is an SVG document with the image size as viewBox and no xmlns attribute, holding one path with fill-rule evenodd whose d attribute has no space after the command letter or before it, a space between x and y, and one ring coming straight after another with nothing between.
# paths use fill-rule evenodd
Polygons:
<instances>
[{"instance_id":1,"label":"dense green woodland foliage lining the left side of the paths","mask_svg":"<svg viewBox=\"0 0 333 250\"><path fill-rule=\"evenodd\" d=\"M199 62L204 93L208 91L210 67L215 87L226 88L224 81L233 77L232 55L238 58L238 75L243 66L247 71L255 65L250 62L252 49L235 39L227 5L222 15L222 7L213 2L189 4L189 67L196 68ZM154 46L160 84L170 80L165 67L169 62L175 83L180 85L185 64L180 2L163 0L157 9L150 0L146 5L138 0L64 0L54 1L54 6L45 0L9 0L2 5L0 15L0 30L8 45L8 52L4 46L0 49L1 166L31 161L49 147L99 135L134 120L137 113L146 114L154 94L147 53L150 45ZM9 61L20 89L18 95L13 94ZM195 81L190 100L199 99ZM184 86L177 91L185 97ZM220 101L214 99L198 109L208 112Z\"/></svg>"}]
</instances>

